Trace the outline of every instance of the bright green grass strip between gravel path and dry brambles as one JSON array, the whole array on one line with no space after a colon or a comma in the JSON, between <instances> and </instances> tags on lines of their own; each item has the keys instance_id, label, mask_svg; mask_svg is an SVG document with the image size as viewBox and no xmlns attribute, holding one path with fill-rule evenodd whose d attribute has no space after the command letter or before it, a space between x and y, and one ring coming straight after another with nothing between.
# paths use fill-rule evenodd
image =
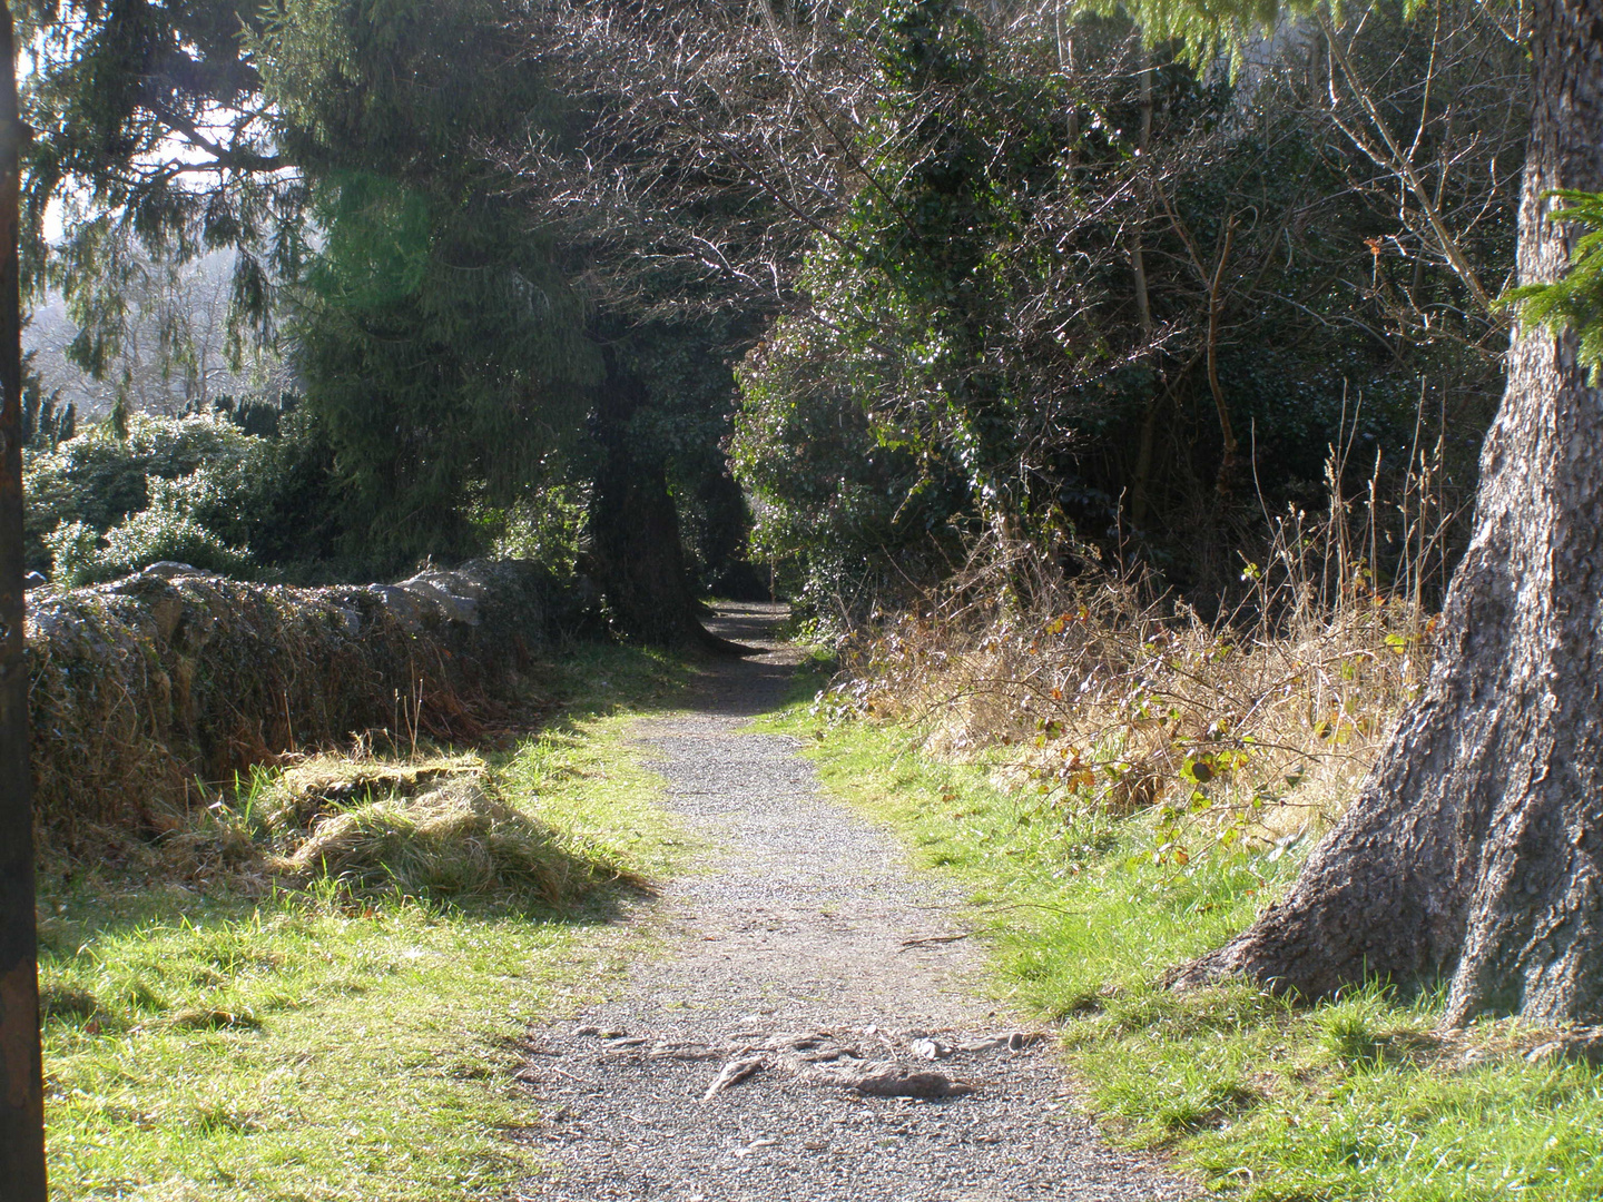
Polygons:
<instances>
[{"instance_id":1,"label":"bright green grass strip between gravel path and dry brambles","mask_svg":"<svg viewBox=\"0 0 1603 1202\"><path fill-rule=\"evenodd\" d=\"M1141 819L999 790L984 766L922 755L912 731L826 728L805 704L774 724L813 742L830 789L960 883L997 994L1061 1024L1116 1139L1255 1202L1603 1196L1603 1072L1528 1061L1532 1032L1483 1023L1443 1039L1430 994L1372 987L1298 1008L1247 986L1157 984L1246 926L1294 857L1154 864Z\"/></svg>"}]
</instances>

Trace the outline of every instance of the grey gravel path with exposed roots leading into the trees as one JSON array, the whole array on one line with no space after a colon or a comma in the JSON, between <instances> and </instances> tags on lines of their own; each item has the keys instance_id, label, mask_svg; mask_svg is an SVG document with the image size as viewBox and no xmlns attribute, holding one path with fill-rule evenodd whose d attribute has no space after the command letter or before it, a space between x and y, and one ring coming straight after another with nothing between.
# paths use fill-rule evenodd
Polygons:
<instances>
[{"instance_id":1,"label":"grey gravel path with exposed roots leading into the trees","mask_svg":"<svg viewBox=\"0 0 1603 1202\"><path fill-rule=\"evenodd\" d=\"M718 628L752 643L773 619L744 606ZM720 664L691 712L640 723L668 805L717 851L665 891L670 957L531 1031L519 1080L548 1107L529 1136L551 1167L524 1196L1196 1197L1096 1143L1052 1042L979 1000L951 899L819 792L793 739L742 731L789 672L782 649Z\"/></svg>"}]
</instances>

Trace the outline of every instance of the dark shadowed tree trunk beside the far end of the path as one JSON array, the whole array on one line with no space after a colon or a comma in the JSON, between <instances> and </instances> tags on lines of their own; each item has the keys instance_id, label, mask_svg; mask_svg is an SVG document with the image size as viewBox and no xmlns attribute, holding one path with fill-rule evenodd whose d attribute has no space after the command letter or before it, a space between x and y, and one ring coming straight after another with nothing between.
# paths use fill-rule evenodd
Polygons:
<instances>
[{"instance_id":1,"label":"dark shadowed tree trunk beside the far end of the path","mask_svg":"<svg viewBox=\"0 0 1603 1202\"><path fill-rule=\"evenodd\" d=\"M601 454L590 503L590 558L612 628L656 646L744 651L709 635L696 620L680 516L662 457L638 447L630 430L630 418L646 404L646 386L611 349L604 361L592 422Z\"/></svg>"}]
</instances>

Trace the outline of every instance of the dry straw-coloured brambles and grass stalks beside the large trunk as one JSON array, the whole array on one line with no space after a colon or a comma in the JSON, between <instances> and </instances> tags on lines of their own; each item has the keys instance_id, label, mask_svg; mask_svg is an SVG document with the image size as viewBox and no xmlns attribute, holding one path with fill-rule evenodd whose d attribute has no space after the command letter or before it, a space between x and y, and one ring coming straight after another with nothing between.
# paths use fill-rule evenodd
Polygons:
<instances>
[{"instance_id":1,"label":"dry straw-coloured brambles and grass stalks beside the large trunk","mask_svg":"<svg viewBox=\"0 0 1603 1202\"><path fill-rule=\"evenodd\" d=\"M939 755L1010 748L1000 782L1044 808L1154 811L1162 859L1289 846L1355 797L1430 660L1422 580L1446 519L1409 534L1415 555L1377 590L1374 526L1355 537L1348 518L1337 500L1322 522L1279 521L1217 620L1138 579L981 548L917 612L843 643L821 710L923 724Z\"/></svg>"}]
</instances>

